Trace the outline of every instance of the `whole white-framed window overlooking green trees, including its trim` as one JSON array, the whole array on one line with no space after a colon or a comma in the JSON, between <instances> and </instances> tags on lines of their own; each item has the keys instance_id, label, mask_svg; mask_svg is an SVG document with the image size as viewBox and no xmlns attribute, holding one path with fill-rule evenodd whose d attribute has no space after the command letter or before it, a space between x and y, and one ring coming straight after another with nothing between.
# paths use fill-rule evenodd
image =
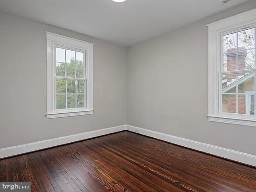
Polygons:
<instances>
[{"instance_id":1,"label":"whole white-framed window overlooking green trees, including its trim","mask_svg":"<svg viewBox=\"0 0 256 192\"><path fill-rule=\"evenodd\" d=\"M93 44L46 32L47 118L93 113Z\"/></svg>"}]
</instances>

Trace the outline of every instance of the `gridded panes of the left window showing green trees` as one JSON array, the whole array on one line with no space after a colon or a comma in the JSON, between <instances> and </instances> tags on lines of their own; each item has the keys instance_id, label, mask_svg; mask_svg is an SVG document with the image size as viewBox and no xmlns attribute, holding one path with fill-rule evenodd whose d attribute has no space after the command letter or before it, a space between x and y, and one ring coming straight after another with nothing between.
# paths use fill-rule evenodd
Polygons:
<instances>
[{"instance_id":1,"label":"gridded panes of the left window showing green trees","mask_svg":"<svg viewBox=\"0 0 256 192\"><path fill-rule=\"evenodd\" d=\"M55 108L86 108L85 51L55 46Z\"/></svg>"}]
</instances>

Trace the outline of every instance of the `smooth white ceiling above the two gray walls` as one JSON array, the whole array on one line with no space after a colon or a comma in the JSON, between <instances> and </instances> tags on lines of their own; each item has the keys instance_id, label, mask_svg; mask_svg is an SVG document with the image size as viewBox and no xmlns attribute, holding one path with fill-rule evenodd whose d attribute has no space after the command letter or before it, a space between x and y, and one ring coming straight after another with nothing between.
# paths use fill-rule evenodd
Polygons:
<instances>
[{"instance_id":1,"label":"smooth white ceiling above the two gray walls","mask_svg":"<svg viewBox=\"0 0 256 192\"><path fill-rule=\"evenodd\" d=\"M0 0L0 11L131 46L247 0Z\"/></svg>"}]
</instances>

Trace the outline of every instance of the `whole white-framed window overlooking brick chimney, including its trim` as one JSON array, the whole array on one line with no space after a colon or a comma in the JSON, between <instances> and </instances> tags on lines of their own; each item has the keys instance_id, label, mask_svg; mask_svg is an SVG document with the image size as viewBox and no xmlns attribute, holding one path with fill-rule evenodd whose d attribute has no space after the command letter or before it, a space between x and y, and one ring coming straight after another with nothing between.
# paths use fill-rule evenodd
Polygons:
<instances>
[{"instance_id":1,"label":"whole white-framed window overlooking brick chimney, including its trim","mask_svg":"<svg viewBox=\"0 0 256 192\"><path fill-rule=\"evenodd\" d=\"M256 126L256 9L208 24L208 120Z\"/></svg>"}]
</instances>

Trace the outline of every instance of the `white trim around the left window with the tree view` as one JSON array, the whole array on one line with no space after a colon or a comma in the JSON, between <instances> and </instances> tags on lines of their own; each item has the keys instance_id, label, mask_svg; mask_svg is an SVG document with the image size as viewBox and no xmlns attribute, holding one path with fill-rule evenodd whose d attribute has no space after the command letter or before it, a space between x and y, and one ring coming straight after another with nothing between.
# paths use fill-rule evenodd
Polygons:
<instances>
[{"instance_id":1,"label":"white trim around the left window with the tree view","mask_svg":"<svg viewBox=\"0 0 256 192\"><path fill-rule=\"evenodd\" d=\"M47 47L47 85L46 85L46 118L58 118L68 116L80 116L93 114L93 45L82 40L61 36L52 32L46 32ZM62 44L67 47L81 49L86 52L85 73L86 73L86 108L55 110L55 80L54 80L54 47L55 44Z\"/></svg>"}]
</instances>

